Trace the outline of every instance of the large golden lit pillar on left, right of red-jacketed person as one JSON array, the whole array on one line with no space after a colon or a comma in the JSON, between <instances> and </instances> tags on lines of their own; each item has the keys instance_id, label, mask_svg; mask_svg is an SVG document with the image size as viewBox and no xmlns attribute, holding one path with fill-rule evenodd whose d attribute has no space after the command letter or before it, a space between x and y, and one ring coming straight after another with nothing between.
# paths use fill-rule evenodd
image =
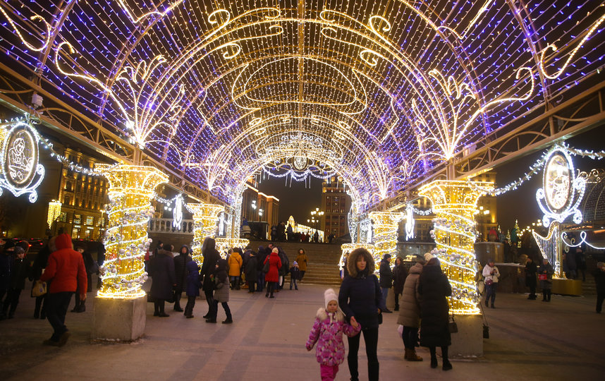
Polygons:
<instances>
[{"instance_id":1,"label":"large golden lit pillar on left, right of red-jacketed person","mask_svg":"<svg viewBox=\"0 0 605 381\"><path fill-rule=\"evenodd\" d=\"M97 164L96 168L109 180L103 286L97 296L140 298L145 296L141 284L147 280L143 261L150 243L147 226L154 214L151 200L168 176L154 167Z\"/></svg>"}]
</instances>

